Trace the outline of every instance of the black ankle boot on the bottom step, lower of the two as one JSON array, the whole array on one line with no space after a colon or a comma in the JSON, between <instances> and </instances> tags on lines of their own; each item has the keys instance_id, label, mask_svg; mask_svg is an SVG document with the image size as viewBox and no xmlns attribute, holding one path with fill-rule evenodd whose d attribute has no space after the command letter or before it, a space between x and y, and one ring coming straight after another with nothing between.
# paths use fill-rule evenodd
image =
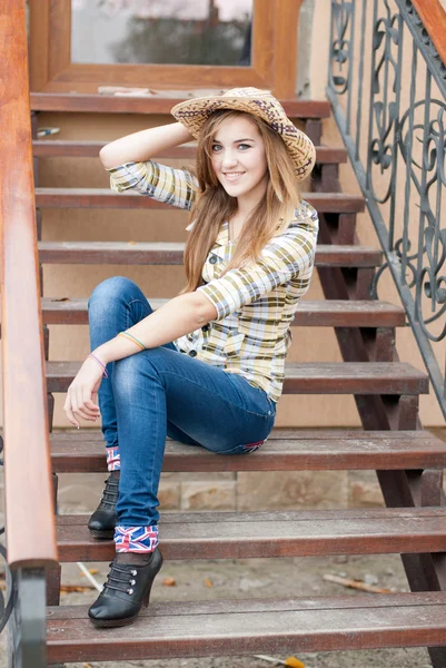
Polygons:
<instances>
[{"instance_id":1,"label":"black ankle boot on the bottom step, lower of the two","mask_svg":"<svg viewBox=\"0 0 446 668\"><path fill-rule=\"evenodd\" d=\"M162 566L162 557L157 548L147 563L118 563L115 559L110 566L103 590L88 611L91 622L99 628L131 623L141 607L147 608L151 586Z\"/></svg>"}]
</instances>

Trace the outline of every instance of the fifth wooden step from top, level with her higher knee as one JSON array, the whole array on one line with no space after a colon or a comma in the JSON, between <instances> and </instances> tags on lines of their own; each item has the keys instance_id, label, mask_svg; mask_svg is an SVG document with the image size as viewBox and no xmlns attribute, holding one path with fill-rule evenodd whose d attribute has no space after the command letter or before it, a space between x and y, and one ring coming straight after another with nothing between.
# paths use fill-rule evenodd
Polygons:
<instances>
[{"instance_id":1,"label":"fifth wooden step from top, level with her higher knee","mask_svg":"<svg viewBox=\"0 0 446 668\"><path fill-rule=\"evenodd\" d=\"M152 308L159 308L168 299L149 297ZM42 298L43 322L49 325L88 323L88 299ZM328 299L303 301L296 312L294 326L306 327L403 327L405 311L386 302Z\"/></svg>"}]
</instances>

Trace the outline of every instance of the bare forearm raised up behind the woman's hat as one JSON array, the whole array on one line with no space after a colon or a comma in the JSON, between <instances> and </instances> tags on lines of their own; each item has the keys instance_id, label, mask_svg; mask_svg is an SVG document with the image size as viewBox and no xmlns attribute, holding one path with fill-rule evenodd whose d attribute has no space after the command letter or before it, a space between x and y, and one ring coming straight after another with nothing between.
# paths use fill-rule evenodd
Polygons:
<instances>
[{"instance_id":1,"label":"bare forearm raised up behind the woman's hat","mask_svg":"<svg viewBox=\"0 0 446 668\"><path fill-rule=\"evenodd\" d=\"M127 135L101 148L99 158L106 169L125 163L143 163L159 153L187 141L194 137L180 122L159 126Z\"/></svg>"}]
</instances>

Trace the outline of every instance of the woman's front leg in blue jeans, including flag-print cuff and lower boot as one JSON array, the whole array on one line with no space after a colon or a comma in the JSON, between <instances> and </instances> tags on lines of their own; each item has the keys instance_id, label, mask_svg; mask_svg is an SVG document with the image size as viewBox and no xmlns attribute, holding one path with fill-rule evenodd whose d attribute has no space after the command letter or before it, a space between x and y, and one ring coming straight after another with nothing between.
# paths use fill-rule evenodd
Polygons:
<instances>
[{"instance_id":1,"label":"woman's front leg in blue jeans, including flag-print cuff and lower boot","mask_svg":"<svg viewBox=\"0 0 446 668\"><path fill-rule=\"evenodd\" d=\"M161 568L157 493L168 428L174 438L216 453L249 453L268 436L275 420L275 404L265 392L179 353L172 344L116 362L110 380L106 409L112 407L113 414L109 412L105 431L120 452L118 554L89 610L99 627L133 621Z\"/></svg>"}]
</instances>

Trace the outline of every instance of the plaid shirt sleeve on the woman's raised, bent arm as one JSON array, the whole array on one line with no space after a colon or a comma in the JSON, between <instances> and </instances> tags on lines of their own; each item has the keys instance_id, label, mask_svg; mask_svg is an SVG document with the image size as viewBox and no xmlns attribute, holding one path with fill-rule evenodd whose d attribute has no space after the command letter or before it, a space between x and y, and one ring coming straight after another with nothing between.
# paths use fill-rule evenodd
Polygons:
<instances>
[{"instance_id":1,"label":"plaid shirt sleeve on the woman's raised, bent arm","mask_svg":"<svg viewBox=\"0 0 446 668\"><path fill-rule=\"evenodd\" d=\"M108 171L110 188L115 193L136 190L182 209L192 207L198 189L198 181L188 169L174 169L153 160L126 163Z\"/></svg>"}]
</instances>

